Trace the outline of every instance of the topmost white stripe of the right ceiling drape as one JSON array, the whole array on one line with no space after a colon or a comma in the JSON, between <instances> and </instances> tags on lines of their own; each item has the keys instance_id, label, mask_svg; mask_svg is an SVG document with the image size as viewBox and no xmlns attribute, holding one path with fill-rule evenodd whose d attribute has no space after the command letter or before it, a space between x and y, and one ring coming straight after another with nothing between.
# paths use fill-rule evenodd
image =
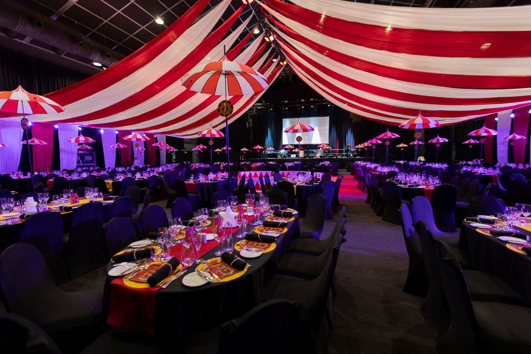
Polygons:
<instances>
[{"instance_id":1,"label":"topmost white stripe of the right ceiling drape","mask_svg":"<svg viewBox=\"0 0 531 354\"><path fill-rule=\"evenodd\" d=\"M383 27L432 31L530 31L531 6L484 8L390 7L338 0L292 0L314 12ZM489 21L485 21L489 19Z\"/></svg>"}]
</instances>

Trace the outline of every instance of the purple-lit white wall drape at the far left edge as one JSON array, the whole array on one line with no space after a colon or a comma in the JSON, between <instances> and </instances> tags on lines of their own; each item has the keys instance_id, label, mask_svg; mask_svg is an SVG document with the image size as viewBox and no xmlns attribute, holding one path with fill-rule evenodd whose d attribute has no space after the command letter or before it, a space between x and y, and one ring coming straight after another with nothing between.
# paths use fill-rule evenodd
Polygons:
<instances>
[{"instance_id":1,"label":"purple-lit white wall drape at the far left edge","mask_svg":"<svg viewBox=\"0 0 531 354\"><path fill-rule=\"evenodd\" d=\"M19 167L20 154L23 146L20 119L17 121L0 120L0 142L6 144L0 148L0 173L11 173Z\"/></svg>"}]
</instances>

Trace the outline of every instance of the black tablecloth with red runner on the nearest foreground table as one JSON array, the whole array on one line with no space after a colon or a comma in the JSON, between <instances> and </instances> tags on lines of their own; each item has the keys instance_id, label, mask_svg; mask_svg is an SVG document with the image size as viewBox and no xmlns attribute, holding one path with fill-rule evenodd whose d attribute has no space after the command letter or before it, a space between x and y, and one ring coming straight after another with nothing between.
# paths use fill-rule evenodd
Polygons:
<instances>
[{"instance_id":1,"label":"black tablecloth with red runner on the nearest foreground table","mask_svg":"<svg viewBox=\"0 0 531 354\"><path fill-rule=\"evenodd\" d=\"M278 261L286 252L290 239L297 236L298 227L298 215L294 215L294 220L287 224L287 232L276 238L276 248L256 258L243 258L251 267L234 280L186 287L182 279L194 272L196 264L193 264L167 288L142 289L151 290L145 297L139 289L124 286L122 277L108 275L104 296L107 323L122 329L153 333L157 339L167 342L168 346L178 348L181 339L241 316L262 302L264 280L276 273ZM233 235L235 244L242 239ZM211 247L207 254L201 256L203 260L216 257L215 240L202 246ZM170 252L177 256L180 248L180 244L171 247ZM239 252L235 250L233 255L239 255ZM107 271L112 266L109 262Z\"/></svg>"}]
</instances>

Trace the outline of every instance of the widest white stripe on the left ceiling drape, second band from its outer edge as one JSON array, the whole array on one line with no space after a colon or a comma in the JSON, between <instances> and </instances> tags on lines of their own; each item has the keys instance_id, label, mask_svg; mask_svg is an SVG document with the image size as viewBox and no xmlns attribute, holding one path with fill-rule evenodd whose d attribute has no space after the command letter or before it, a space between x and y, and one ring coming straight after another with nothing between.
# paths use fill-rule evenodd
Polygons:
<instances>
[{"instance_id":1,"label":"widest white stripe on the left ceiling drape, second band from its outer edge","mask_svg":"<svg viewBox=\"0 0 531 354\"><path fill-rule=\"evenodd\" d=\"M37 116L35 118L32 117L32 119L37 120L38 122L48 122L50 121L49 119L57 121L74 118L104 109L112 106L116 102L129 98L133 93L143 89L145 85L159 80L161 76L164 76L171 68L183 61L187 55L198 47L212 30L229 3L229 0L224 0L216 6L213 11L210 11L202 19L187 29L159 56L141 67L138 71L124 77L123 80L118 81L92 96L65 106L65 111L54 115L54 118ZM109 122L112 122L113 120L109 120Z\"/></svg>"}]
</instances>

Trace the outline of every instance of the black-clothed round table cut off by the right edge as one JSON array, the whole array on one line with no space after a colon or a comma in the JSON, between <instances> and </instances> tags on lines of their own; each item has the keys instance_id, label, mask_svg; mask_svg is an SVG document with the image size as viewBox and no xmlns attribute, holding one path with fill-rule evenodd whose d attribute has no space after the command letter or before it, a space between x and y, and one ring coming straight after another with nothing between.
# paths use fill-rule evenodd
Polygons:
<instances>
[{"instance_id":1,"label":"black-clothed round table cut off by the right edge","mask_svg":"<svg viewBox=\"0 0 531 354\"><path fill-rule=\"evenodd\" d=\"M527 301L531 302L531 257L508 247L504 241L486 235L486 233L463 222L459 235L459 248L470 253L472 267L490 272L515 289ZM522 234L531 232L519 230Z\"/></svg>"}]
</instances>

